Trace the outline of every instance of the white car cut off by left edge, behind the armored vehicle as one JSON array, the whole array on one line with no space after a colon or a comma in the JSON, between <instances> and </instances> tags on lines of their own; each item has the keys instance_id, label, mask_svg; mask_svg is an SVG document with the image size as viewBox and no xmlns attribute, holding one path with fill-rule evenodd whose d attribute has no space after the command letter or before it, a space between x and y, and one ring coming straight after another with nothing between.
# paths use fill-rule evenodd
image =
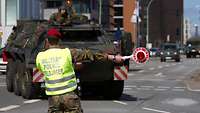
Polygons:
<instances>
[{"instance_id":1,"label":"white car cut off by left edge, behind the armored vehicle","mask_svg":"<svg viewBox=\"0 0 200 113\"><path fill-rule=\"evenodd\" d=\"M3 59L3 50L4 48L0 48L0 72L5 73L7 68L7 61Z\"/></svg>"}]
</instances>

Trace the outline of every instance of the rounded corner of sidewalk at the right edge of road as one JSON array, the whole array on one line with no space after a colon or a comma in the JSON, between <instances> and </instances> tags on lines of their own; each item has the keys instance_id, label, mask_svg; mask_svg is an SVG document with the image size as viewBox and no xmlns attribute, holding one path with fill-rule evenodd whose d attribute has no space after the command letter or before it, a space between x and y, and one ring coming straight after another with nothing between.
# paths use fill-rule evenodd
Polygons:
<instances>
[{"instance_id":1,"label":"rounded corner of sidewalk at the right edge of road","mask_svg":"<svg viewBox=\"0 0 200 113\"><path fill-rule=\"evenodd\" d=\"M193 72L190 78L185 80L185 83L188 90L200 92L200 70Z\"/></svg>"}]
</instances>

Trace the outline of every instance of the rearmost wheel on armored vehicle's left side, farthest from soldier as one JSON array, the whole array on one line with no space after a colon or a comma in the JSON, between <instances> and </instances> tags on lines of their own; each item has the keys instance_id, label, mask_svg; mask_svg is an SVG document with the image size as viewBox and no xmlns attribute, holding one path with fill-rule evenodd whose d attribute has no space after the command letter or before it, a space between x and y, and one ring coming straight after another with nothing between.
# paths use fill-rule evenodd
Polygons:
<instances>
[{"instance_id":1,"label":"rearmost wheel on armored vehicle's left side, farthest from soldier","mask_svg":"<svg viewBox=\"0 0 200 113\"><path fill-rule=\"evenodd\" d=\"M13 59L8 59L7 69L6 69L6 85L8 92L13 92L13 78L16 74L16 63Z\"/></svg>"}]
</instances>

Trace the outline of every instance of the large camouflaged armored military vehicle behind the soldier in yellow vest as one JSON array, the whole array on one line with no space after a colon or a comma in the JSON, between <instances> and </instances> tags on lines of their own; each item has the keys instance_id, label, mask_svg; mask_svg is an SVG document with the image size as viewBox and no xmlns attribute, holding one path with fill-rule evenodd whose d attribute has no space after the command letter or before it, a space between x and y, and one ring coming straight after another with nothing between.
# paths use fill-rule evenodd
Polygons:
<instances>
[{"instance_id":1,"label":"large camouflaged armored military vehicle behind the soldier in yellow vest","mask_svg":"<svg viewBox=\"0 0 200 113\"><path fill-rule=\"evenodd\" d=\"M19 20L16 27L17 30L9 37L5 47L8 59L6 84L9 92L14 91L16 95L22 95L26 99L36 98L44 92L43 74L36 68L35 58L38 52L44 50L48 28L55 27L62 33L60 43L63 47L85 51L86 55L82 55L85 57L82 61L83 68L76 71L81 93L84 95L90 89L97 89L98 94L107 99L117 99L122 95L129 60L115 64L98 59L97 53L132 54L130 33L124 32L121 41L113 43L112 32L88 22L52 25L45 20ZM94 57L89 57L87 53Z\"/></svg>"}]
</instances>

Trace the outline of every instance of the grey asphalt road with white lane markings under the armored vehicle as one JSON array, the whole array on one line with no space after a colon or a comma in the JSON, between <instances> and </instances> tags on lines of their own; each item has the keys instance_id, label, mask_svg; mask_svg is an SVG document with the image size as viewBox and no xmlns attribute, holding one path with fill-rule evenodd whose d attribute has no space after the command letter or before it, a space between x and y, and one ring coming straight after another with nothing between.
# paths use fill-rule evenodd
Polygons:
<instances>
[{"instance_id":1,"label":"grey asphalt road with white lane markings under the armored vehicle","mask_svg":"<svg viewBox=\"0 0 200 113\"><path fill-rule=\"evenodd\" d=\"M82 99L84 113L199 113L200 92L185 84L190 73L200 67L199 59L146 64L131 63L129 79L120 100ZM5 75L0 75L0 112L46 113L47 100L24 100L8 93Z\"/></svg>"}]
</instances>

